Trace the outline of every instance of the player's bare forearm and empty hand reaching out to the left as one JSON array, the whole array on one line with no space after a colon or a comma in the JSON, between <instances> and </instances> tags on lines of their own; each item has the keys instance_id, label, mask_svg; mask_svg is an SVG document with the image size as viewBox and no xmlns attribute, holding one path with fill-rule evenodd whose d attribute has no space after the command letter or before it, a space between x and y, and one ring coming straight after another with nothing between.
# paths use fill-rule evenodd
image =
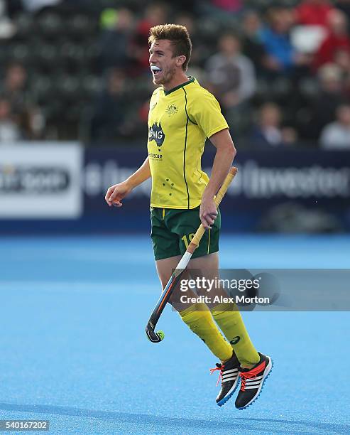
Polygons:
<instances>
[{"instance_id":1,"label":"player's bare forearm and empty hand reaching out to the left","mask_svg":"<svg viewBox=\"0 0 350 435\"><path fill-rule=\"evenodd\" d=\"M107 192L104 199L106 203L111 207L114 205L115 207L121 207L123 204L121 200L128 195L133 188L136 188L139 184L143 183L143 181L148 180L151 177L150 163L147 159L142 163L140 168L135 171L130 177L126 178L125 181L114 184L111 186Z\"/></svg>"}]
</instances>

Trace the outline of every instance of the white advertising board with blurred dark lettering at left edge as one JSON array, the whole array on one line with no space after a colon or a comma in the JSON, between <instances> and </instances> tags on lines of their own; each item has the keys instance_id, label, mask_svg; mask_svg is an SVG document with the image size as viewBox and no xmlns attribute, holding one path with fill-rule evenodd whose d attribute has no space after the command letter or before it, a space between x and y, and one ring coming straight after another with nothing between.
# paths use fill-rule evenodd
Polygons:
<instances>
[{"instance_id":1,"label":"white advertising board with blurred dark lettering at left edge","mask_svg":"<svg viewBox=\"0 0 350 435\"><path fill-rule=\"evenodd\" d=\"M74 219L83 211L77 143L0 146L0 219Z\"/></svg>"}]
</instances>

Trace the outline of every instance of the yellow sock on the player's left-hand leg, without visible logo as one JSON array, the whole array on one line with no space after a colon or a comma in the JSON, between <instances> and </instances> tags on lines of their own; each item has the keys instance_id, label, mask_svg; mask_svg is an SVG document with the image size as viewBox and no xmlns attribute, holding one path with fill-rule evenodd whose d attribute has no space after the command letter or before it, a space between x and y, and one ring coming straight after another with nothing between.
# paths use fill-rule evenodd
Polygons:
<instances>
[{"instance_id":1,"label":"yellow sock on the player's left-hand leg, without visible logo","mask_svg":"<svg viewBox=\"0 0 350 435\"><path fill-rule=\"evenodd\" d=\"M212 314L205 304L194 304L179 312L182 320L198 335L219 360L229 360L232 348L215 325Z\"/></svg>"}]
</instances>

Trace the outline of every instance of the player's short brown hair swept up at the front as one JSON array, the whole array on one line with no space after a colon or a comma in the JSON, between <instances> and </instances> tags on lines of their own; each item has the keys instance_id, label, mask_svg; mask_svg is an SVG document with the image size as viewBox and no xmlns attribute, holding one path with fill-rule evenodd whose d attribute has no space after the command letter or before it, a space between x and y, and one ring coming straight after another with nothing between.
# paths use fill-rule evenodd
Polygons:
<instances>
[{"instance_id":1,"label":"player's short brown hair swept up at the front","mask_svg":"<svg viewBox=\"0 0 350 435\"><path fill-rule=\"evenodd\" d=\"M154 41L159 39L168 39L170 41L173 46L174 58L176 56L186 56L186 60L182 64L182 70L186 71L192 52L192 42L187 28L177 24L160 24L159 26L154 26L150 30L148 43L151 45Z\"/></svg>"}]
</instances>

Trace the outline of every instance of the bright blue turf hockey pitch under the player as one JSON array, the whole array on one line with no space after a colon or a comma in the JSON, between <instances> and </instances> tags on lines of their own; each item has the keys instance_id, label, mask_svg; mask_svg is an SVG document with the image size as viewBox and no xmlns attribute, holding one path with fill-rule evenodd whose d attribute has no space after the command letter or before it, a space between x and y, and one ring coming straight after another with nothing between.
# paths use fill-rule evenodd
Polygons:
<instances>
[{"instance_id":1,"label":"bright blue turf hockey pitch under the player","mask_svg":"<svg viewBox=\"0 0 350 435\"><path fill-rule=\"evenodd\" d=\"M148 237L2 238L0 260L0 419L50 420L50 434L350 433L349 313L244 313L275 365L240 412L234 397L215 404L216 360L176 313L148 342L160 291ZM221 267L349 260L349 237L221 243Z\"/></svg>"}]
</instances>

